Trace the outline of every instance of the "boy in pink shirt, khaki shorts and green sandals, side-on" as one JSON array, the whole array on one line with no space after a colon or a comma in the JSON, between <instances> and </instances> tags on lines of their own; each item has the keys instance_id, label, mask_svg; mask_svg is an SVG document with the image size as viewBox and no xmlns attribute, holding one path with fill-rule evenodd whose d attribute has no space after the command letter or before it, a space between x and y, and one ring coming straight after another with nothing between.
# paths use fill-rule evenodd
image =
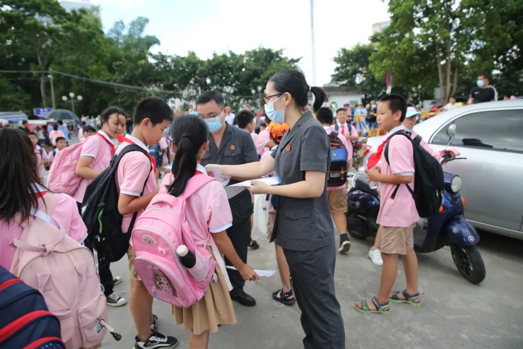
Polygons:
<instances>
[{"instance_id":1,"label":"boy in pink shirt, khaki shorts and green sandals, side-on","mask_svg":"<svg viewBox=\"0 0 523 349\"><path fill-rule=\"evenodd\" d=\"M389 162L385 160L383 147L378 148L377 156L366 170L369 181L378 182L381 195L380 211L377 223L382 229L381 254L383 267L378 295L370 300L363 298L355 304L356 310L363 313L390 313L389 300L408 303L413 306L422 304L418 292L418 261L414 252L413 230L419 220L412 194L406 185L414 188L414 155L412 143L406 137L391 137L395 132L405 130L407 104L400 95L386 95L378 105L378 126L387 132L385 142L389 142ZM379 158L378 158L379 156ZM372 164L372 162L376 162ZM394 198L392 193L399 184ZM397 258L402 256L407 288L394 291L392 287L397 276Z\"/></svg>"}]
</instances>

